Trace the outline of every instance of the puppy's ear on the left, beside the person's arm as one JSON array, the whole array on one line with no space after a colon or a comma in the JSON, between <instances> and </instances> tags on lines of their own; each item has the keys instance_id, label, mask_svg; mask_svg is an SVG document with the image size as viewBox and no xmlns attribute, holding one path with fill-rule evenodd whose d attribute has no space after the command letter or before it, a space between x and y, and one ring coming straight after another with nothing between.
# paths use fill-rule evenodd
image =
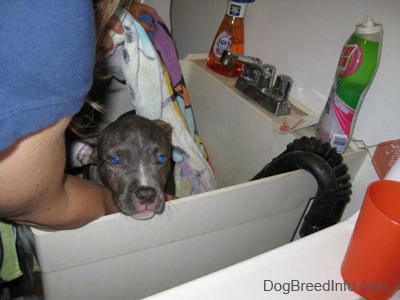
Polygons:
<instances>
[{"instance_id":1,"label":"puppy's ear on the left, beside the person's arm","mask_svg":"<svg viewBox=\"0 0 400 300\"><path fill-rule=\"evenodd\" d=\"M71 167L83 167L96 163L97 136L92 136L72 143L70 148Z\"/></svg>"}]
</instances>

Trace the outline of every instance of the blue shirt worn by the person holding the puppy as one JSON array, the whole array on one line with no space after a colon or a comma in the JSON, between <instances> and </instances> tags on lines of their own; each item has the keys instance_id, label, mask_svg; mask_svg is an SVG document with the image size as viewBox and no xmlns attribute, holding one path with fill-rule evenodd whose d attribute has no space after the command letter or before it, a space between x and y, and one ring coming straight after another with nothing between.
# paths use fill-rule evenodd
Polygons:
<instances>
[{"instance_id":1,"label":"blue shirt worn by the person holding the puppy","mask_svg":"<svg viewBox=\"0 0 400 300\"><path fill-rule=\"evenodd\" d=\"M93 80L90 0L0 0L0 151L75 114Z\"/></svg>"}]
</instances>

